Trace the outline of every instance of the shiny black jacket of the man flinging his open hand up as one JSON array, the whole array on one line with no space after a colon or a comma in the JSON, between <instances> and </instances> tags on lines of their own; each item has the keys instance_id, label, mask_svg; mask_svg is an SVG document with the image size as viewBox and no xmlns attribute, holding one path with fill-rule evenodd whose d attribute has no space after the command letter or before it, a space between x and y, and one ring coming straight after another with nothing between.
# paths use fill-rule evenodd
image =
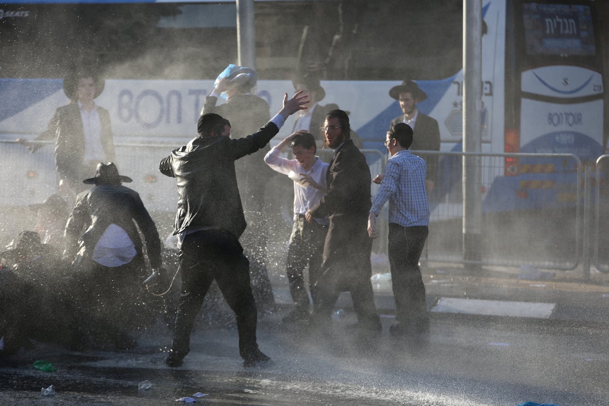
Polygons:
<instances>
[{"instance_id":1,"label":"shiny black jacket of the man flinging his open hand up","mask_svg":"<svg viewBox=\"0 0 609 406\"><path fill-rule=\"evenodd\" d=\"M161 173L175 178L178 186L174 234L188 228L221 228L241 237L247 223L234 161L262 149L278 132L268 122L245 138L199 136L163 158Z\"/></svg>"}]
</instances>

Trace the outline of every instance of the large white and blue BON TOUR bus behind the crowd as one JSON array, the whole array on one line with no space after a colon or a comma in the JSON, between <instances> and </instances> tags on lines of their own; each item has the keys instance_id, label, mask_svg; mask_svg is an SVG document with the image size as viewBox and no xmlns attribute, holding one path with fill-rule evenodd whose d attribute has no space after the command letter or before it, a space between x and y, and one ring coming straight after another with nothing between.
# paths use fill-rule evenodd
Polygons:
<instances>
[{"instance_id":1,"label":"large white and blue BON TOUR bus behind the crowd","mask_svg":"<svg viewBox=\"0 0 609 406\"><path fill-rule=\"evenodd\" d=\"M458 3L434 1L442 4L446 9L455 7ZM80 7L79 9L74 8L75 3ZM125 166L125 169L121 167L121 170L127 172L141 173L139 176L141 181L133 186L144 191L143 195L153 209L174 210L174 201L168 198L174 196L173 185L159 180L156 174L158 158L162 156L160 150L167 153L171 147L182 144L194 135L200 108L205 96L211 93L215 78L209 73L201 74L203 77L195 77L196 74L186 69L185 65L188 64L179 67L166 65L175 62L174 58L167 55L171 55L170 48L176 47L186 51L197 46L201 49L213 49L213 55L206 56L213 60L210 63L215 70L209 67L206 69L215 74L224 69L224 64L235 62L231 59L235 56L236 40L232 37L235 32L235 4L234 1L214 2L215 4L205 1L186 1L179 4L173 2L148 4L145 1L112 3L114 2L102 0L52 2L15 0L5 1L0 5L3 16L0 24L13 24L0 25L0 29L16 33L13 37L23 42L21 47L27 48L25 44L27 43L28 52L24 54L30 57L21 61L18 57L23 55L12 51L13 54L5 55L1 62L5 67L10 67L10 69L2 69L3 72L12 72L0 79L0 95L3 101L0 106L0 141L5 141L2 144L5 149L10 148L10 153L3 152L2 155L14 160L12 164L18 168L15 171L18 176L3 179L4 184L14 184L14 188L8 187L6 193L10 198L5 199L4 204L23 205L32 198L42 201L43 194L51 192L52 186L49 185L53 183L45 178L43 173L52 172L52 158L49 160L48 156L45 158L42 155L28 156L26 152L20 152L18 146L11 144L9 147L9 142L18 137L35 136L46 127L54 109L67 102L62 93L61 79L58 79L58 69L55 68L57 63L48 67L38 66L41 72L47 68L49 72L55 72L52 79L43 76L32 77L32 72L37 72L32 70L32 66L37 66L36 64L40 64L44 58L53 61L57 58L56 52L46 56L44 49L32 43L45 40L45 30L49 30L48 26L52 26L51 19L65 15L79 15L80 20L86 16L88 24L93 27L92 30L104 33L104 35L93 35L88 41L94 44L110 44L104 49L114 49L116 54L113 55L121 62L121 64L114 63L113 66L108 65L106 88L102 96L97 99L100 105L111 112L114 138L119 149L121 149L120 145L124 145L122 149L126 156L132 156L130 154L133 148L139 147L141 150L137 154L137 161L124 159L125 163L119 162L119 166ZM321 14L325 14L333 21L335 19L348 21L347 18L339 19L340 15L336 10L340 3L340 1L256 1L259 10L256 12L256 17L266 18L267 20L264 20L266 23L268 19L279 21L278 16L282 16L287 23L292 23L294 19L310 20L310 24L317 25L309 27L309 31L323 32L327 21L319 18ZM110 4L115 8L109 9ZM365 10L366 18L361 16L356 23L364 24L365 20L373 23L381 18L391 18L391 4L392 2L387 4L382 2L374 7L369 5ZM484 107L481 116L482 152L572 153L586 163L594 162L597 156L602 155L607 138L604 134L607 123L603 83L605 67L600 42L601 27L597 15L597 6L600 4L587 0L485 0L482 6L485 27L482 37ZM430 37L434 36L434 29L444 29L442 25L448 24L436 24L436 21L446 21L442 19L442 9L434 9L431 5L418 7L420 14L417 16L424 16L425 18L420 19L429 21L424 27L430 30ZM315 10L314 15L286 13L290 10L294 13L305 13L306 9ZM417 12L415 9L417 7L413 6L412 13ZM155 26L142 27L142 37L137 37L136 32L129 32L128 35L135 38L134 43L146 43L147 47L155 48L153 51L149 49L149 52L134 48L121 53L120 44L111 43L112 39L106 38L110 33L105 29L110 26L111 29L118 30L124 24L113 23L108 16L126 18L125 15L130 11L136 15L135 10L145 16L137 15L139 20L153 21ZM452 20L457 21L458 26L462 15L456 14L457 11L459 10L451 10L450 16ZM393 12L396 13L399 12ZM150 15L155 17L152 18ZM180 16L181 19L178 18ZM188 31L192 30L188 28L189 24L196 25L197 31ZM66 25L69 26L66 23L60 24L61 27ZM7 27L12 27L12 30L9 31ZM188 33L180 33L177 27L184 27L185 32ZM381 52L385 48L378 51L379 41L387 41L389 44L386 49L387 68L371 69L370 58L358 57L359 54L353 51L355 53L350 54L350 60L358 61L357 63L361 65L352 62L349 69L352 73L342 75L340 80L334 79L339 77L337 74L326 75L328 80L322 80L322 86L326 91L324 103L337 103L340 108L349 111L351 127L364 141L365 149L385 153L382 141L389 122L393 117L401 114L398 102L389 97L388 91L405 79L396 74L396 66L392 65L395 64L393 60L398 60L400 63L404 61L400 56L401 53L398 52L400 41L403 40L393 38L392 35L380 35L379 30L385 30L387 27L378 24L372 26L371 23L366 27L367 29L362 28L360 31L367 33L369 38L356 38L356 40L359 39L362 47L376 41L376 43L372 42L375 46L366 48L368 54L375 49L376 52ZM454 29L456 26L449 27ZM347 28L347 26L342 27L342 30L345 31ZM56 32L63 33L61 30ZM167 32L171 32L172 35L167 35ZM152 33L158 37L149 38ZM216 47L213 47L213 41L200 41L200 35L212 38L217 43ZM257 61L261 72L258 94L269 102L271 111L280 108L281 95L285 91L290 92L294 89L289 75L285 72L278 73L280 69L276 68L284 60L289 62L283 71L287 71L289 67L295 68L295 62L298 60L294 55L302 51L303 47L299 47L299 44L303 43L298 41L304 35L299 33L293 36L296 38L286 37L281 28L274 32L258 29L259 39L256 43L266 44L260 49L257 46ZM455 37L454 33L452 37ZM57 38L54 41L57 42ZM163 43L169 45L162 47ZM275 51L273 44L277 44ZM8 43L4 46L4 52L7 52L6 49L21 48L18 43L10 43L10 45L13 47L10 48ZM428 71L435 69L436 76L423 75L424 70L410 69L410 72L418 72L424 77L408 79L414 79L428 95L428 99L419 103L418 108L422 113L438 121L442 152L462 150L463 72L459 70L459 63L451 62L454 58L449 57L449 55L454 56L454 51L460 52L459 46L460 43L457 41L448 44L446 49L440 52L448 55L446 65L456 66L456 72L448 77L436 77L444 72L442 67L438 66L437 60L431 60L425 65L424 58L416 59L417 55L410 54L417 63L426 66ZM289 55L287 49L290 49ZM337 52L336 49L333 51ZM404 50L406 54L407 51ZM11 58L15 59L15 63L10 63ZM133 62L136 58L140 61L139 65ZM426 58L430 57L426 56ZM117 68L116 65L121 65L122 69ZM271 65L275 67L269 68ZM436 66L437 68L434 68ZM20 77L20 69L27 71L28 75ZM199 69L198 65L197 69ZM202 70L203 68L200 68L199 72ZM145 72L151 73L146 76ZM291 128L292 124L289 121L277 139L281 139L282 135L286 136ZM48 154L51 154L51 149L49 145ZM431 196L435 210L435 217L432 212L432 219L442 219L440 213L443 208L446 205L458 205L461 199L459 159L447 156L445 159L440 159L440 164L449 169L438 171L438 176L444 178L438 179L437 184L444 186L438 188ZM561 186L564 171L557 170L559 167L564 169L564 164L548 162L546 166L540 167L531 165L526 159L505 158L501 167L493 172L492 182L484 191L484 211L515 211L572 205L574 194ZM26 193L23 192L25 179L19 179L19 176L27 177ZM523 177L528 181L523 183Z\"/></svg>"}]
</instances>

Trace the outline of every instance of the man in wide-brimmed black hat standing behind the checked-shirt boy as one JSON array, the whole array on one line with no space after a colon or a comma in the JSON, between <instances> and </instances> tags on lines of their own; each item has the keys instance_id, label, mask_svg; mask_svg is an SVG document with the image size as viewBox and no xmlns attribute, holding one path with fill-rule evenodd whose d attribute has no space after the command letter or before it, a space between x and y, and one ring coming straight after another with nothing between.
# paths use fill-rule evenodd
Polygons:
<instances>
[{"instance_id":1,"label":"man in wide-brimmed black hat standing behind the checked-shirt boy","mask_svg":"<svg viewBox=\"0 0 609 406\"><path fill-rule=\"evenodd\" d=\"M406 123L414 131L410 150L439 151L440 128L438 127L438 122L417 110L417 103L427 99L427 94L419 88L417 82L414 82L414 80L404 80L401 85L393 86L389 90L389 96L400 102L400 108L404 113L391 121L389 130L398 124L398 122ZM429 193L434 189L435 185L438 155L421 154L421 158L425 159L427 163L425 187Z\"/></svg>"}]
</instances>

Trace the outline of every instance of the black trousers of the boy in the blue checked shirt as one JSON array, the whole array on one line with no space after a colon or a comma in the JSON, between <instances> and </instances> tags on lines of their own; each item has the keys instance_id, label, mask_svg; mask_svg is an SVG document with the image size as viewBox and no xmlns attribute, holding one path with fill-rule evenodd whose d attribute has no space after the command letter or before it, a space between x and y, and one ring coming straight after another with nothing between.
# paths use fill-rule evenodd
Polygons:
<instances>
[{"instance_id":1,"label":"black trousers of the boy in the blue checked shirt","mask_svg":"<svg viewBox=\"0 0 609 406\"><path fill-rule=\"evenodd\" d=\"M426 319L425 285L418 266L429 229L389 223L389 265L395 298L396 319L400 324Z\"/></svg>"}]
</instances>

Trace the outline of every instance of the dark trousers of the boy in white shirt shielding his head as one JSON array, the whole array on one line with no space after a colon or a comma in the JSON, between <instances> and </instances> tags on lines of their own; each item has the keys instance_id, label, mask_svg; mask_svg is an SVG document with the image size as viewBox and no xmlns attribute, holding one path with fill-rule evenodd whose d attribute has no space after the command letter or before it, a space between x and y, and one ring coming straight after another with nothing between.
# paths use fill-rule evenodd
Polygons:
<instances>
[{"instance_id":1,"label":"dark trousers of the boy in white shirt shielding his head","mask_svg":"<svg viewBox=\"0 0 609 406\"><path fill-rule=\"evenodd\" d=\"M309 295L305 288L303 271L309 265L309 290L315 302L315 282L322 267L323 242L328 227L320 223L307 223L304 215L298 215L292 226L287 247L287 282L297 309L309 308Z\"/></svg>"}]
</instances>

